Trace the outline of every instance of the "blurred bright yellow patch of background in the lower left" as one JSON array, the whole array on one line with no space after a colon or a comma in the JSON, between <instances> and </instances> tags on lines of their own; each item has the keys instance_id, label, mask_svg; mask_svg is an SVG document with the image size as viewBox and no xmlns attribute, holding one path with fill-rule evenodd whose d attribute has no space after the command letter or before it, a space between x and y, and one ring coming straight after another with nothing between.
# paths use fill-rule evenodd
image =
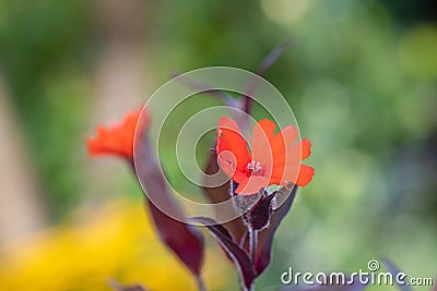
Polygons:
<instances>
[{"instance_id":1,"label":"blurred bright yellow patch of background in the lower left","mask_svg":"<svg viewBox=\"0 0 437 291\"><path fill-rule=\"evenodd\" d=\"M75 226L59 226L7 248L1 290L110 290L108 281L147 290L196 290L188 269L161 244L141 201L118 201ZM220 252L206 260L217 262ZM204 278L221 289L224 264L205 262Z\"/></svg>"}]
</instances>

